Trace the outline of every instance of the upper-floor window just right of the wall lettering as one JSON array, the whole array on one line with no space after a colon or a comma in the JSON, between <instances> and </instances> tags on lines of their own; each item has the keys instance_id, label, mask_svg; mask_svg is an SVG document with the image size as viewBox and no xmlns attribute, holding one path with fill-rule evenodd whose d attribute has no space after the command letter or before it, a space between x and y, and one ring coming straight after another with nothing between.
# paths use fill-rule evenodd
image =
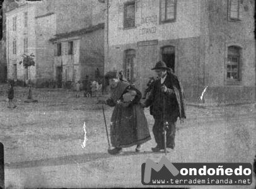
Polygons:
<instances>
[{"instance_id":1,"label":"upper-floor window just right of the wall lettering","mask_svg":"<svg viewBox=\"0 0 256 189\"><path fill-rule=\"evenodd\" d=\"M161 22L176 20L177 0L160 0Z\"/></svg>"}]
</instances>

